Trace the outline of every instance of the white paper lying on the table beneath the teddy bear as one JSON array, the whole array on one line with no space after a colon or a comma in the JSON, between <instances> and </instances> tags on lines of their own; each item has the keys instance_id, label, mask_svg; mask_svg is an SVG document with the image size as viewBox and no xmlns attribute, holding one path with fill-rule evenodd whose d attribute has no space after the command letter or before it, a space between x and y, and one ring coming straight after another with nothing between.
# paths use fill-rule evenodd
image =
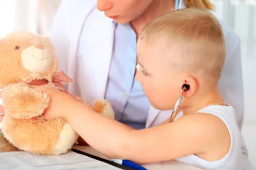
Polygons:
<instances>
[{"instance_id":1,"label":"white paper lying on the table beneath the teddy bear","mask_svg":"<svg viewBox=\"0 0 256 170\"><path fill-rule=\"evenodd\" d=\"M0 152L0 169L54 169L54 170L75 170L75 169L120 169L99 160L68 152L62 155L34 155L25 151Z\"/></svg>"}]
</instances>

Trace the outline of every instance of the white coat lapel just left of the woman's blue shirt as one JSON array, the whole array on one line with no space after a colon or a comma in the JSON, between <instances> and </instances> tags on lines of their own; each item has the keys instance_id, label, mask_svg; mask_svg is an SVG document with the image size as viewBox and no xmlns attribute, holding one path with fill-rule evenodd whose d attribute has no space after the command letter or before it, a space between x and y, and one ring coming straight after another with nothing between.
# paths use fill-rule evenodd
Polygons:
<instances>
[{"instance_id":1,"label":"white coat lapel just left of the woman's blue shirt","mask_svg":"<svg viewBox=\"0 0 256 170\"><path fill-rule=\"evenodd\" d=\"M92 104L94 99L105 98L113 54L115 23L94 8L84 25L86 25L83 29L86 39L82 43L84 50L81 57L85 57L86 62L83 66L86 77L85 80L80 80L83 84L83 89L80 89L83 90L82 94L87 95L84 99Z\"/></svg>"}]
</instances>

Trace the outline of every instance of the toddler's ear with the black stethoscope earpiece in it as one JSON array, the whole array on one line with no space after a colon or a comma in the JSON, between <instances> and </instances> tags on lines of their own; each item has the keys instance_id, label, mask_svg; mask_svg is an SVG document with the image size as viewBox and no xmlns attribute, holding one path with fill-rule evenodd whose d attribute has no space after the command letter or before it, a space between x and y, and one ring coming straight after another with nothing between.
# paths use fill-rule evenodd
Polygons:
<instances>
[{"instance_id":1,"label":"toddler's ear with the black stethoscope earpiece in it","mask_svg":"<svg viewBox=\"0 0 256 170\"><path fill-rule=\"evenodd\" d=\"M191 97L195 94L195 92L198 89L198 83L196 81L196 79L194 79L193 77L186 77L184 80L184 84L187 84L187 91L183 92L183 96L184 97Z\"/></svg>"}]
</instances>

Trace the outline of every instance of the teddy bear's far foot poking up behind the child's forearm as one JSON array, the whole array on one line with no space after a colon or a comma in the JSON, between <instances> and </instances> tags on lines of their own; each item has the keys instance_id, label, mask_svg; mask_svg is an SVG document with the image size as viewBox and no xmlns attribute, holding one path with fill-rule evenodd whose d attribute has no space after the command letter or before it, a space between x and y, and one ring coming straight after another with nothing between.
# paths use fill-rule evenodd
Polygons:
<instances>
[{"instance_id":1,"label":"teddy bear's far foot poking up behind the child's forearm","mask_svg":"<svg viewBox=\"0 0 256 170\"><path fill-rule=\"evenodd\" d=\"M115 113L107 100L95 100L92 109L111 119L115 119Z\"/></svg>"}]
</instances>

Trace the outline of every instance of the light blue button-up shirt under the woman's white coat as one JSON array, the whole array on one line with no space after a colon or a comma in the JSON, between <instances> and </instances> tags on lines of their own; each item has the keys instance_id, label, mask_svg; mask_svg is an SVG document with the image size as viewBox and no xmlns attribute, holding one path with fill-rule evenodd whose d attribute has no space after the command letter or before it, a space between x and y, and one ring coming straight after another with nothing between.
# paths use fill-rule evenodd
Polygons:
<instances>
[{"instance_id":1,"label":"light blue button-up shirt under the woman's white coat","mask_svg":"<svg viewBox=\"0 0 256 170\"><path fill-rule=\"evenodd\" d=\"M150 103L141 84L134 78L136 46L136 34L130 24L116 23L105 98L111 103L117 121L143 129Z\"/></svg>"}]
</instances>

